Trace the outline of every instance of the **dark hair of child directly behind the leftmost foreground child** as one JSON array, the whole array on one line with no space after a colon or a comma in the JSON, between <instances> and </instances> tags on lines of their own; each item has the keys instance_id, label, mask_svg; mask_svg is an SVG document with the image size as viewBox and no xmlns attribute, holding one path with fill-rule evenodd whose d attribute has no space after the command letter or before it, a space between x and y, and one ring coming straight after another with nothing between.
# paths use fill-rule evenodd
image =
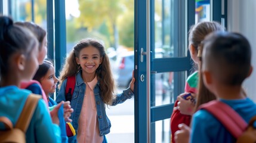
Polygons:
<instances>
[{"instance_id":1,"label":"dark hair of child directly behind the leftmost foreground child","mask_svg":"<svg viewBox=\"0 0 256 143\"><path fill-rule=\"evenodd\" d=\"M39 51L41 51L42 44L43 44L44 38L46 36L46 31L44 29L42 29L42 27L40 27L37 24L32 23L32 22L27 22L27 21L20 22L20 21L18 21L15 24L17 24L18 26L26 27L27 29L31 30L31 32L38 39Z\"/></svg>"}]
</instances>

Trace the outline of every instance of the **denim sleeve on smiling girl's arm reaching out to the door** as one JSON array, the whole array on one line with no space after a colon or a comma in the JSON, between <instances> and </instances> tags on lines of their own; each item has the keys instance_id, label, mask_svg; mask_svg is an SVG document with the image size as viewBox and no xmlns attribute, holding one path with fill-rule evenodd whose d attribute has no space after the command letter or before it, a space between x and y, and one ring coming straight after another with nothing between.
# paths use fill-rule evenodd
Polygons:
<instances>
[{"instance_id":1,"label":"denim sleeve on smiling girl's arm reaching out to the door","mask_svg":"<svg viewBox=\"0 0 256 143\"><path fill-rule=\"evenodd\" d=\"M131 91L131 88L125 89L121 94L116 95L116 99L112 101L112 105L120 104L133 96L134 93Z\"/></svg>"}]
</instances>

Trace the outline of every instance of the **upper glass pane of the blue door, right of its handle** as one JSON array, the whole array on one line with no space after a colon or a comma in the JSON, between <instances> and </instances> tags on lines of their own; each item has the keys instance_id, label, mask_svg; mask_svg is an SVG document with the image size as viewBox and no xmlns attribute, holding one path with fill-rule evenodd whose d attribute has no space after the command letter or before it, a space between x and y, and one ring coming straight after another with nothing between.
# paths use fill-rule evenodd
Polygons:
<instances>
[{"instance_id":1,"label":"upper glass pane of the blue door, right of its handle","mask_svg":"<svg viewBox=\"0 0 256 143\"><path fill-rule=\"evenodd\" d=\"M155 1L155 58L185 57L186 2Z\"/></svg>"}]
</instances>

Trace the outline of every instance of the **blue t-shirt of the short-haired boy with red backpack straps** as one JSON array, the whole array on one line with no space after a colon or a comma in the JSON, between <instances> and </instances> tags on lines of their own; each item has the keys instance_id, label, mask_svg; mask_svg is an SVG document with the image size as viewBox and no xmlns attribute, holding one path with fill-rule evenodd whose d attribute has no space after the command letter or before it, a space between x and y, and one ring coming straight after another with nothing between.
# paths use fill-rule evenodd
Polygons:
<instances>
[{"instance_id":1,"label":"blue t-shirt of the short-haired boy with red backpack straps","mask_svg":"<svg viewBox=\"0 0 256 143\"><path fill-rule=\"evenodd\" d=\"M249 98L242 100L220 100L232 107L247 123L256 116L256 104ZM226 128L206 110L197 111L192 118L190 142L235 142Z\"/></svg>"}]
</instances>

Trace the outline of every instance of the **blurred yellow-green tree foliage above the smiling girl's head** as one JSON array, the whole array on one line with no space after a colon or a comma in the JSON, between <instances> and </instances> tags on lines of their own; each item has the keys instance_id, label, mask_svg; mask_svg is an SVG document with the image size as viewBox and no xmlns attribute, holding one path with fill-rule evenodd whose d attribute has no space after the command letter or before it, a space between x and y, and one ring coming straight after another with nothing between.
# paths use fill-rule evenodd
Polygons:
<instances>
[{"instance_id":1,"label":"blurred yellow-green tree foliage above the smiling girl's head","mask_svg":"<svg viewBox=\"0 0 256 143\"><path fill-rule=\"evenodd\" d=\"M133 0L79 0L78 2L79 10L81 12L80 17L78 18L79 27L86 27L88 32L97 30L106 36L110 45L114 47L117 46L115 43L117 43L116 41L118 38L115 37L115 33L119 28L118 18L122 17L124 13L127 13L129 9L134 7ZM134 11L134 9L132 8L132 10L129 11ZM134 26L132 26L132 29L133 27ZM127 32L129 32L129 30L127 30ZM119 33L119 35L120 34L121 33ZM128 36L131 35L131 33L124 35ZM121 38L122 37L119 39ZM129 43L128 45L132 46Z\"/></svg>"}]
</instances>

